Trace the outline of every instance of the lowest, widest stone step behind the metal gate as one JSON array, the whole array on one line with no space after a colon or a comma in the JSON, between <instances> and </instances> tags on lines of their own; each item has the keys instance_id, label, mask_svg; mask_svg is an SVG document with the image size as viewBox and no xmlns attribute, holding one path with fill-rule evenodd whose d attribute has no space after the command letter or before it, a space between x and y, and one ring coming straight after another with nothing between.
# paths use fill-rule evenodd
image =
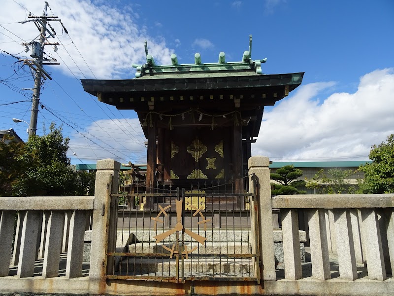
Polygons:
<instances>
[{"instance_id":1,"label":"lowest, widest stone step behind the metal gate","mask_svg":"<svg viewBox=\"0 0 394 296\"><path fill-rule=\"evenodd\" d=\"M127 272L128 275L141 275L146 273L169 273L174 274L176 270L175 259L123 259L119 264L118 271ZM252 259L233 258L189 258L184 260L184 270L187 274L200 274L200 276L210 276L212 274L239 274L251 276L253 273ZM181 273L181 260L179 260L179 274Z\"/></svg>"}]
</instances>

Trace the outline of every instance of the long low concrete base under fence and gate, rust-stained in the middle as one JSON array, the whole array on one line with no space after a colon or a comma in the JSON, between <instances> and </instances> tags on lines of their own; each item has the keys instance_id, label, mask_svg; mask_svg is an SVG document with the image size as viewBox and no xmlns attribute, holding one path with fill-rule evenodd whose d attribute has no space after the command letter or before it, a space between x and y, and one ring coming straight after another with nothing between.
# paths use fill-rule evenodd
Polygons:
<instances>
[{"instance_id":1,"label":"long low concrete base under fence and gate, rust-stained in the middle","mask_svg":"<svg viewBox=\"0 0 394 296\"><path fill-rule=\"evenodd\" d=\"M0 293L12 294L107 294L132 296L187 296L187 295L314 295L314 296L392 296L394 280L375 281L360 279L345 281L331 279L327 281L311 278L297 281L256 282L229 281L186 281L175 284L153 281L125 280L89 280L62 278L0 278Z\"/></svg>"}]
</instances>

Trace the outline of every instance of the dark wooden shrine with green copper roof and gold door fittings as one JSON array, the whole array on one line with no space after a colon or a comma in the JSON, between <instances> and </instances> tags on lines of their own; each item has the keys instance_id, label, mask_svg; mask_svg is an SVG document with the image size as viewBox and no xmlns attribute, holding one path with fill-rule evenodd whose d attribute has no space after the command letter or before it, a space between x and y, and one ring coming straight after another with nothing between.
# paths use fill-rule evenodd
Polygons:
<instances>
[{"instance_id":1,"label":"dark wooden shrine with green copper roof and gold door fittings","mask_svg":"<svg viewBox=\"0 0 394 296\"><path fill-rule=\"evenodd\" d=\"M236 180L245 175L251 143L259 135L264 106L272 106L302 82L303 73L263 74L264 60L249 51L239 62L133 65L134 79L82 79L84 90L117 109L134 110L147 138L147 185ZM235 191L243 192L242 180Z\"/></svg>"}]
</instances>

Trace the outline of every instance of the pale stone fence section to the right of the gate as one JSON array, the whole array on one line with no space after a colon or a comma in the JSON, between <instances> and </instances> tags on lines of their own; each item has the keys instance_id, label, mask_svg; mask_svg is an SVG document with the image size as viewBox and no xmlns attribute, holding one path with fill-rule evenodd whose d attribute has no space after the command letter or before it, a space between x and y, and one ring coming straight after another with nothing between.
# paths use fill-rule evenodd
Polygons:
<instances>
[{"instance_id":1,"label":"pale stone fence section to the right of the gate","mask_svg":"<svg viewBox=\"0 0 394 296\"><path fill-rule=\"evenodd\" d=\"M327 281L331 283L327 287L342 289L342 293L350 293L344 287L353 281L353 291L363 295L394 294L394 194L277 195L272 197L272 207L280 209L285 279L296 281L299 291L311 292L311 287L319 286L315 283L306 288L302 286L306 282L300 280L297 211L303 210L309 228L313 279ZM339 265L339 278L333 280L329 253L337 256ZM359 278L360 264L367 270L363 282ZM335 289L331 292L340 295Z\"/></svg>"}]
</instances>

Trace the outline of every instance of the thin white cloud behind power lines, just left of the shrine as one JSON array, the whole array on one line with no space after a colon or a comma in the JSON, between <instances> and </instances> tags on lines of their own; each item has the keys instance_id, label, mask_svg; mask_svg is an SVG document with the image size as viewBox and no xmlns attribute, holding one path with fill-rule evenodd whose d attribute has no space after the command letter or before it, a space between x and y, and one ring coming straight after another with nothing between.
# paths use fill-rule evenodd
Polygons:
<instances>
[{"instance_id":1,"label":"thin white cloud behind power lines, just left of the shrine","mask_svg":"<svg viewBox=\"0 0 394 296\"><path fill-rule=\"evenodd\" d=\"M145 137L138 118L102 119L70 136L69 156L73 152L84 162L94 163L99 159L112 158L120 162L145 163Z\"/></svg>"}]
</instances>

